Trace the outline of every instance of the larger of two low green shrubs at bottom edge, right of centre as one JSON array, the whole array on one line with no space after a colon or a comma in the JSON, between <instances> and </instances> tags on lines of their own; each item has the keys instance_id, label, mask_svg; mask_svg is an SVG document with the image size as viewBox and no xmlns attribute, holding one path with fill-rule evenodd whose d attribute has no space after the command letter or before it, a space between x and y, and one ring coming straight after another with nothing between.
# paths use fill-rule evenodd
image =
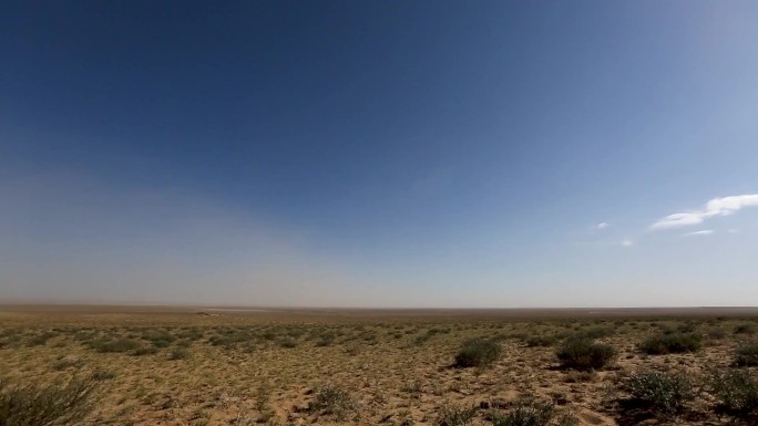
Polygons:
<instances>
[{"instance_id":1,"label":"larger of two low green shrubs at bottom edge, right of centre","mask_svg":"<svg viewBox=\"0 0 758 426\"><path fill-rule=\"evenodd\" d=\"M537 399L515 403L508 412L492 411L488 419L493 426L574 426L578 419L566 413L559 413L555 404Z\"/></svg>"}]
</instances>

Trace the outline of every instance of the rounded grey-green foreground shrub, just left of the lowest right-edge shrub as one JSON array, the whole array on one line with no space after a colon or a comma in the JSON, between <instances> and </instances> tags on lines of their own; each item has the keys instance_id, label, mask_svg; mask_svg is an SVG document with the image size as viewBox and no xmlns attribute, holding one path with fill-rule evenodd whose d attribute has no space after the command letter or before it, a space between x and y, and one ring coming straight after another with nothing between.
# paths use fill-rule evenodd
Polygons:
<instances>
[{"instance_id":1,"label":"rounded grey-green foreground shrub, just left of the lowest right-edge shrub","mask_svg":"<svg viewBox=\"0 0 758 426\"><path fill-rule=\"evenodd\" d=\"M684 373L642 372L631 375L622 383L629 401L663 415L684 411L697 393Z\"/></svg>"}]
</instances>

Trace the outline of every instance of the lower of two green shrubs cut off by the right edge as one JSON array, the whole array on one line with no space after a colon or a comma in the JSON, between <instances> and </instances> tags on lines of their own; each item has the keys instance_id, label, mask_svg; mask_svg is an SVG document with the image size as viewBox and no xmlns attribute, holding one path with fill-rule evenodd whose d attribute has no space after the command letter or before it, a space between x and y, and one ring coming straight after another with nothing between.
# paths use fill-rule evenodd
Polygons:
<instances>
[{"instance_id":1,"label":"lower of two green shrubs cut off by the right edge","mask_svg":"<svg viewBox=\"0 0 758 426\"><path fill-rule=\"evenodd\" d=\"M731 370L711 373L709 385L718 408L736 417L758 415L758 373Z\"/></svg>"}]
</instances>

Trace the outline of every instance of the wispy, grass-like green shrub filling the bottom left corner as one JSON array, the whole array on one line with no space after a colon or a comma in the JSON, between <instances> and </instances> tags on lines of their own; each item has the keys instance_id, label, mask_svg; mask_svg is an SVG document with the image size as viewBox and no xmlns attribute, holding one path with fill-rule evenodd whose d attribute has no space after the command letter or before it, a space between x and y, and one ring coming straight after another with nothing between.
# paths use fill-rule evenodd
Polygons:
<instances>
[{"instance_id":1,"label":"wispy, grass-like green shrub filling the bottom left corner","mask_svg":"<svg viewBox=\"0 0 758 426\"><path fill-rule=\"evenodd\" d=\"M0 425L78 424L92 411L96 382L72 378L65 385L8 385L0 382Z\"/></svg>"}]
</instances>

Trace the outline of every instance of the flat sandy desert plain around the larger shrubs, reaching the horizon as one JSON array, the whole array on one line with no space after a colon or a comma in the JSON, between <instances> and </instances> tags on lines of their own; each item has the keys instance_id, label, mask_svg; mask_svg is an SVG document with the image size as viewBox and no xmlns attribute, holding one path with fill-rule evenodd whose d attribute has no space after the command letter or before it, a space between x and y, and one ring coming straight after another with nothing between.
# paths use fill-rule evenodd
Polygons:
<instances>
[{"instance_id":1,"label":"flat sandy desert plain around the larger shrubs, reaching the horizon","mask_svg":"<svg viewBox=\"0 0 758 426\"><path fill-rule=\"evenodd\" d=\"M494 411L526 399L582 425L721 425L737 417L718 413L698 377L735 370L735 350L754 342L756 330L751 308L0 305L0 378L44 385L95 377L96 404L82 424L98 425L492 425ZM677 334L697 336L698 347L639 347L646 337ZM576 335L613 346L615 356L597 368L565 367L556 347ZM496 342L491 365L454 365L471 339ZM631 409L619 384L643 371L685 372L698 396L676 413Z\"/></svg>"}]
</instances>

